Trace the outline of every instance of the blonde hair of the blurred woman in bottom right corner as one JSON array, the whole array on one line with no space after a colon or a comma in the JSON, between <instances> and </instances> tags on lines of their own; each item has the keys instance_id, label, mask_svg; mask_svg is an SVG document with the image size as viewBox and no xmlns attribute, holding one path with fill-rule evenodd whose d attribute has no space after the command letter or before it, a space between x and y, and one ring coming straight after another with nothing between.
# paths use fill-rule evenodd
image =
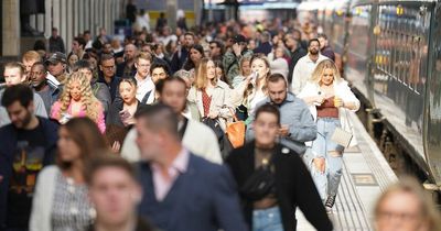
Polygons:
<instances>
[{"instance_id":1,"label":"blonde hair of the blurred woman in bottom right corner","mask_svg":"<svg viewBox=\"0 0 441 231\"><path fill-rule=\"evenodd\" d=\"M413 177L400 178L397 184L389 186L386 191L381 194L374 209L376 222L378 222L384 201L396 194L410 194L415 196L419 204L418 210L420 213L418 216L424 221L427 230L441 230L440 212L437 210L434 204L430 200L430 195L422 189L421 185Z\"/></svg>"}]
</instances>

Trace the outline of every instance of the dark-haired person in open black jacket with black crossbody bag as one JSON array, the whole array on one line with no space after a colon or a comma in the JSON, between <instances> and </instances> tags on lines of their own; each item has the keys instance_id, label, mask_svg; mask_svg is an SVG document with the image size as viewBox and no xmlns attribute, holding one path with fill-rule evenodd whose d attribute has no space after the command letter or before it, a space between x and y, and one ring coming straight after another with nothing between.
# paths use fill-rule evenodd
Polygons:
<instances>
[{"instance_id":1,"label":"dark-haired person in open black jacket with black crossbody bag","mask_svg":"<svg viewBox=\"0 0 441 231\"><path fill-rule=\"evenodd\" d=\"M226 158L251 230L295 230L295 207L299 207L316 230L331 231L332 223L308 168L298 153L277 142L278 108L259 107L252 128L256 140L234 150Z\"/></svg>"}]
</instances>

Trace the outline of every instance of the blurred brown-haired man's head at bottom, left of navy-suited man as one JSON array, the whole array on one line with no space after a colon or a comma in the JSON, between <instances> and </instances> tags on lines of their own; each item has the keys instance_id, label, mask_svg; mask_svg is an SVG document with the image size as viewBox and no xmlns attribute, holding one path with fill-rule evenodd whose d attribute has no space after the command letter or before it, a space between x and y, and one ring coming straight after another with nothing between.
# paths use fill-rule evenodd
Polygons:
<instances>
[{"instance_id":1,"label":"blurred brown-haired man's head at bottom, left of navy-suited man","mask_svg":"<svg viewBox=\"0 0 441 231\"><path fill-rule=\"evenodd\" d=\"M142 189L129 162L103 153L90 160L86 169L89 198L96 211L95 223L88 231L153 230L137 215Z\"/></svg>"}]
</instances>

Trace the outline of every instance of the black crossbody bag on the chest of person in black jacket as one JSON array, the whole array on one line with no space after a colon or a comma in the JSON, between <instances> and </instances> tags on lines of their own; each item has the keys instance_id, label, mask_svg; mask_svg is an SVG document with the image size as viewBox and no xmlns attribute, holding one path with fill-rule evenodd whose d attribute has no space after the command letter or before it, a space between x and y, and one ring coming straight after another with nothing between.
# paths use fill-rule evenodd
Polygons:
<instances>
[{"instance_id":1,"label":"black crossbody bag on the chest of person in black jacket","mask_svg":"<svg viewBox=\"0 0 441 231\"><path fill-rule=\"evenodd\" d=\"M271 173L271 161L268 164L257 168L245 184L239 188L239 193L250 200L260 200L272 193L276 179Z\"/></svg>"}]
</instances>

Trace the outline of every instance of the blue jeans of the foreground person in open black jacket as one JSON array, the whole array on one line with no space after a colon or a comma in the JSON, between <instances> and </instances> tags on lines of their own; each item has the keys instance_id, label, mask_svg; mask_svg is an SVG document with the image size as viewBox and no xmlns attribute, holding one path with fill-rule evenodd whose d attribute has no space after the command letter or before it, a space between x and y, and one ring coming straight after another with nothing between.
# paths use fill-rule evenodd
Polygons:
<instances>
[{"instance_id":1,"label":"blue jeans of the foreground person in open black jacket","mask_svg":"<svg viewBox=\"0 0 441 231\"><path fill-rule=\"evenodd\" d=\"M255 209L252 211L252 231L283 231L279 207Z\"/></svg>"}]
</instances>

